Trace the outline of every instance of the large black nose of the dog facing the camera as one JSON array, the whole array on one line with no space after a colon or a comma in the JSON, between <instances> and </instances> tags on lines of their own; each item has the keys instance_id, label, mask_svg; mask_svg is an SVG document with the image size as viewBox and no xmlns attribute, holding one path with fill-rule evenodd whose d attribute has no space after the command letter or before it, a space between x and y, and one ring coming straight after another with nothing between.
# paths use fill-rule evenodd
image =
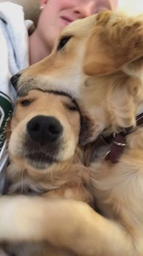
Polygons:
<instances>
[{"instance_id":1,"label":"large black nose of the dog facing the camera","mask_svg":"<svg viewBox=\"0 0 143 256\"><path fill-rule=\"evenodd\" d=\"M62 126L53 116L35 116L27 124L30 137L44 145L55 142L62 135Z\"/></svg>"}]
</instances>

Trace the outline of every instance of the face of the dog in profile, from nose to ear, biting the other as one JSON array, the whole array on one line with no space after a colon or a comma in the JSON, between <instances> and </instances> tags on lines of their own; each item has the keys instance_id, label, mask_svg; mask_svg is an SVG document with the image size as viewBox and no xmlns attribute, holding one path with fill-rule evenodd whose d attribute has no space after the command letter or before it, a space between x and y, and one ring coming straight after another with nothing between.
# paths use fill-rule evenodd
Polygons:
<instances>
[{"instance_id":1,"label":"face of the dog in profile, from nose to ear, biting the other","mask_svg":"<svg viewBox=\"0 0 143 256\"><path fill-rule=\"evenodd\" d=\"M52 54L13 76L12 84L18 95L24 96L33 88L41 88L45 91L67 91L73 97L79 96L83 53L95 21L96 16L93 15L65 27L55 43Z\"/></svg>"}]
</instances>

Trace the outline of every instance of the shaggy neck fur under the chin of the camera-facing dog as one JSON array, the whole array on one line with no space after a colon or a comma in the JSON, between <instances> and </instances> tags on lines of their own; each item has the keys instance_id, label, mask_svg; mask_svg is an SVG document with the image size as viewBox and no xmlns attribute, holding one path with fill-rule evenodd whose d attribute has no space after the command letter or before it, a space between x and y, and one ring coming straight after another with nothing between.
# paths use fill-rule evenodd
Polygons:
<instances>
[{"instance_id":1,"label":"shaggy neck fur under the chin of the camera-facing dog","mask_svg":"<svg viewBox=\"0 0 143 256\"><path fill-rule=\"evenodd\" d=\"M11 162L7 168L8 190L6 193L42 194L55 190L71 178L67 172L70 167L69 164L68 166L63 165L59 168L45 169L39 172L35 169L34 173L30 171L30 168L21 168L15 162ZM68 179L66 179L67 176Z\"/></svg>"}]
</instances>

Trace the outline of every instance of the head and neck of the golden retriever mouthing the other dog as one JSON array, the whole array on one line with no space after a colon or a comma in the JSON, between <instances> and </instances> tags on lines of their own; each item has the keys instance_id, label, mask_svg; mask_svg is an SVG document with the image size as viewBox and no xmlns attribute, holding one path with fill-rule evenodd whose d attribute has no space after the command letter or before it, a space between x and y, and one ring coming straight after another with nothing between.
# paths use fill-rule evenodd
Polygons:
<instances>
[{"instance_id":1,"label":"head and neck of the golden retriever mouthing the other dog","mask_svg":"<svg viewBox=\"0 0 143 256\"><path fill-rule=\"evenodd\" d=\"M33 88L80 97L95 133L135 126L142 104L143 20L107 10L67 26L52 54L12 78L19 95Z\"/></svg>"}]
</instances>

